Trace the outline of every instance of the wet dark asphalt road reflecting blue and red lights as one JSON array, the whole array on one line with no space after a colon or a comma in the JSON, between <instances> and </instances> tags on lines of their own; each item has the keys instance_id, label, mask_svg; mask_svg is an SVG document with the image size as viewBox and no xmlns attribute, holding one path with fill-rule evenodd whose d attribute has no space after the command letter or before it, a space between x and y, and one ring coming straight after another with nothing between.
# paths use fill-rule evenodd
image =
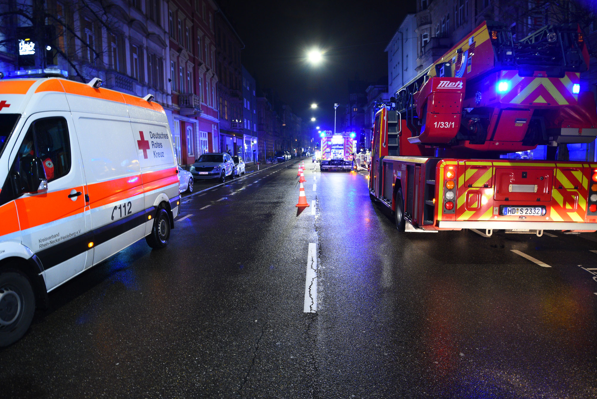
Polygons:
<instances>
[{"instance_id":1,"label":"wet dark asphalt road reflecting blue and red lights","mask_svg":"<svg viewBox=\"0 0 597 399\"><path fill-rule=\"evenodd\" d=\"M0 350L0 397L597 397L595 234L401 234L364 174L307 160L304 211L275 165L53 291Z\"/></svg>"}]
</instances>

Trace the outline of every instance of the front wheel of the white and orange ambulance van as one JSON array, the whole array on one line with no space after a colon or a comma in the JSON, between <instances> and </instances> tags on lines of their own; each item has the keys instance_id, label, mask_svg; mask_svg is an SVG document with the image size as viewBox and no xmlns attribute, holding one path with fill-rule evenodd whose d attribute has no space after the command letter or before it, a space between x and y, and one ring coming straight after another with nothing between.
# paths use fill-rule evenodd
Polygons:
<instances>
[{"instance_id":1,"label":"front wheel of the white and orange ambulance van","mask_svg":"<svg viewBox=\"0 0 597 399\"><path fill-rule=\"evenodd\" d=\"M0 274L0 346L16 342L27 332L35 312L35 295L26 275Z\"/></svg>"}]
</instances>

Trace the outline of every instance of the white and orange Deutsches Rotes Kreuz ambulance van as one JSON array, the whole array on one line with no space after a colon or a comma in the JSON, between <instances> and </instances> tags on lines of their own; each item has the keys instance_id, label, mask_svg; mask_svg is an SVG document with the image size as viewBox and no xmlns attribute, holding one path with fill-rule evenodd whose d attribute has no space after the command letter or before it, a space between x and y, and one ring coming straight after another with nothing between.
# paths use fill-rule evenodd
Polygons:
<instances>
[{"instance_id":1,"label":"white and orange Deutsches Rotes Kreuz ambulance van","mask_svg":"<svg viewBox=\"0 0 597 399\"><path fill-rule=\"evenodd\" d=\"M100 85L0 79L0 346L60 284L141 238L168 244L180 197L164 109Z\"/></svg>"}]
</instances>

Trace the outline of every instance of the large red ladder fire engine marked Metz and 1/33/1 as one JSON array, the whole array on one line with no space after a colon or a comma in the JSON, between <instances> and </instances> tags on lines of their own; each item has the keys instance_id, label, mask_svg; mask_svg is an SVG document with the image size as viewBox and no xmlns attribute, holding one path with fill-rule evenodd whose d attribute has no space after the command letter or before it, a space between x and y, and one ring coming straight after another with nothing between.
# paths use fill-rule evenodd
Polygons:
<instances>
[{"instance_id":1,"label":"large red ladder fire engine marked Metz and 1/33/1","mask_svg":"<svg viewBox=\"0 0 597 399\"><path fill-rule=\"evenodd\" d=\"M555 161L597 136L577 24L521 41L483 22L376 113L369 189L400 231L597 230L597 164ZM547 160L501 154L546 145Z\"/></svg>"}]
</instances>

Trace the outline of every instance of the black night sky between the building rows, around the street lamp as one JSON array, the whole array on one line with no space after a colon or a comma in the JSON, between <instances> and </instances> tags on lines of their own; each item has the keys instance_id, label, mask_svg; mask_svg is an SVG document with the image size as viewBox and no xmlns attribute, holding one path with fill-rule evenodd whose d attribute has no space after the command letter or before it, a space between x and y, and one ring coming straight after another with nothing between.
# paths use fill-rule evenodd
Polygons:
<instances>
[{"instance_id":1,"label":"black night sky between the building rows, around the street lamp","mask_svg":"<svg viewBox=\"0 0 597 399\"><path fill-rule=\"evenodd\" d=\"M218 3L245 44L242 64L258 89L272 88L308 123L318 118L322 130L333 129L333 105L346 103L347 80L355 73L367 82L387 76L386 45L415 7L413 0ZM326 50L318 67L306 63L313 46ZM319 105L315 112L313 102Z\"/></svg>"}]
</instances>

